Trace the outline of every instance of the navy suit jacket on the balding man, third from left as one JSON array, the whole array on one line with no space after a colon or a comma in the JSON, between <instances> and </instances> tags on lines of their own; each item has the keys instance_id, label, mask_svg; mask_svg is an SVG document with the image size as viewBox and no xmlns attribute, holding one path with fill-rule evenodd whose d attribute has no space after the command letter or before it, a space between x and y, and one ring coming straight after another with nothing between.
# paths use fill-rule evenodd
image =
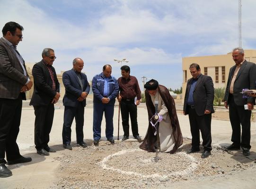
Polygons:
<instances>
[{"instance_id":1,"label":"navy suit jacket on the balding man, third from left","mask_svg":"<svg viewBox=\"0 0 256 189\"><path fill-rule=\"evenodd\" d=\"M89 93L90 85L87 80L87 76L84 73L81 73L83 90L78 80L78 77L74 69L65 71L62 75L63 85L65 86L65 95L63 98L64 106L77 107L79 101L77 100L82 92ZM86 105L86 99L81 102L83 106Z\"/></svg>"}]
</instances>

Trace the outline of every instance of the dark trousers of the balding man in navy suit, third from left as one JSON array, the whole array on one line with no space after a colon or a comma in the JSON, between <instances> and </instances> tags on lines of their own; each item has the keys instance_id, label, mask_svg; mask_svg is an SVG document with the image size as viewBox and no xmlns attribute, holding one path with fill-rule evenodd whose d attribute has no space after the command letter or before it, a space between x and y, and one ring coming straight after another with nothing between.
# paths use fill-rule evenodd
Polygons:
<instances>
[{"instance_id":1,"label":"dark trousers of the balding man in navy suit, third from left","mask_svg":"<svg viewBox=\"0 0 256 189\"><path fill-rule=\"evenodd\" d=\"M71 143L71 125L73 120L76 120L76 136L77 144L84 142L84 106L79 103L78 107L65 106L64 123L62 127L62 141L63 144Z\"/></svg>"}]
</instances>

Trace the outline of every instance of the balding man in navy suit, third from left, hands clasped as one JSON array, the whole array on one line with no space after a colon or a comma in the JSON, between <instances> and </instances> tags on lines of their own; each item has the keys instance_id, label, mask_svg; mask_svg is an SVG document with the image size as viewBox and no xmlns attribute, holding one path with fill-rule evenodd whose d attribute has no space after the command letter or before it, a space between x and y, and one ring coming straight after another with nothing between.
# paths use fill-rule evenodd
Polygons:
<instances>
[{"instance_id":1,"label":"balding man in navy suit, third from left, hands clasped","mask_svg":"<svg viewBox=\"0 0 256 189\"><path fill-rule=\"evenodd\" d=\"M63 147L72 150L71 143L71 125L76 119L77 146L87 147L84 142L84 107L86 106L86 97L90 91L90 85L87 76L82 73L84 62L80 58L73 60L73 69L65 71L62 75L62 81L65 86L65 95L63 98L64 123L62 128Z\"/></svg>"}]
</instances>

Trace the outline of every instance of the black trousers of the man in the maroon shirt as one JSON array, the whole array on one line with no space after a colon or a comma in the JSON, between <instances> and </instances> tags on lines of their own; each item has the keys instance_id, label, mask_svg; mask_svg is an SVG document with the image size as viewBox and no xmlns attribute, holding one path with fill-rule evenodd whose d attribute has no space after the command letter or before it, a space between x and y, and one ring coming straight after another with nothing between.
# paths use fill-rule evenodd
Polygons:
<instances>
[{"instance_id":1,"label":"black trousers of the man in the maroon shirt","mask_svg":"<svg viewBox=\"0 0 256 189\"><path fill-rule=\"evenodd\" d=\"M122 100L120 103L122 124L124 129L124 136L129 137L129 113L132 124L132 135L133 137L139 136L138 133L138 122L137 122L137 106L134 104L134 100L126 101Z\"/></svg>"}]
</instances>

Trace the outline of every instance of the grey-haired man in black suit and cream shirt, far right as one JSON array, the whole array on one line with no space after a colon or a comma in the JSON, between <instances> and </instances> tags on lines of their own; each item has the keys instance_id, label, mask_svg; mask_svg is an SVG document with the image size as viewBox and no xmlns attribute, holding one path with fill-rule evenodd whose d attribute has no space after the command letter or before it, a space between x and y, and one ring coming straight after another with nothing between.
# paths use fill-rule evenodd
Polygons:
<instances>
[{"instance_id":1,"label":"grey-haired man in black suit and cream shirt, far right","mask_svg":"<svg viewBox=\"0 0 256 189\"><path fill-rule=\"evenodd\" d=\"M226 108L229 106L232 126L231 141L233 143L230 146L226 146L226 149L239 150L242 147L243 155L250 155L250 118L255 99L252 96L244 98L240 92L243 89L256 89L256 64L247 62L244 56L242 48L235 48L232 52L236 65L230 68L224 104ZM240 125L242 125L242 136Z\"/></svg>"}]
</instances>

